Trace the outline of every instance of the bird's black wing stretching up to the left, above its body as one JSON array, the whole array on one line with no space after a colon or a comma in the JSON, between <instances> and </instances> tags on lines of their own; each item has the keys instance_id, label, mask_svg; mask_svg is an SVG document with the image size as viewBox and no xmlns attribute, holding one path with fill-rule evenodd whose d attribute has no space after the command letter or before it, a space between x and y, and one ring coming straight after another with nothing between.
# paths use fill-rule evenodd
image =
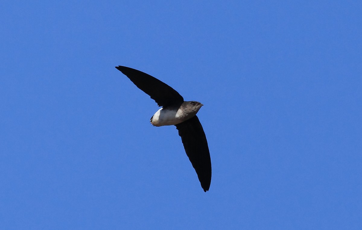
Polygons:
<instances>
[{"instance_id":1,"label":"bird's black wing stretching up to the left, above its body","mask_svg":"<svg viewBox=\"0 0 362 230\"><path fill-rule=\"evenodd\" d=\"M184 102L184 98L176 90L172 89L171 86L147 73L121 65L115 68L130 78L140 90L150 95L159 106L165 107Z\"/></svg>"}]
</instances>

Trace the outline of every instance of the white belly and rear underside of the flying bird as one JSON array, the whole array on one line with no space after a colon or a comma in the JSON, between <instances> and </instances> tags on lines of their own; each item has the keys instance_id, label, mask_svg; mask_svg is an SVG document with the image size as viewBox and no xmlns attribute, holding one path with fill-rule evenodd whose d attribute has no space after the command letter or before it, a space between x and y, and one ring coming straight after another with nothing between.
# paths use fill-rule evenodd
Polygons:
<instances>
[{"instance_id":1,"label":"white belly and rear underside of the flying bird","mask_svg":"<svg viewBox=\"0 0 362 230\"><path fill-rule=\"evenodd\" d=\"M181 110L167 110L164 108L160 108L151 118L151 124L154 126L175 125L183 121Z\"/></svg>"}]
</instances>

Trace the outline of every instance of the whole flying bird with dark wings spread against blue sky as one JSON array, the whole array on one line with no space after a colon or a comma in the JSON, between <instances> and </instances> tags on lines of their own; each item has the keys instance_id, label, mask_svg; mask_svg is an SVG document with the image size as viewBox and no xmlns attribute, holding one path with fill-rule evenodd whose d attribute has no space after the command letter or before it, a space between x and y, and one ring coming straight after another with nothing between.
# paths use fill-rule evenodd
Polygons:
<instances>
[{"instance_id":1,"label":"whole flying bird with dark wings spread against blue sky","mask_svg":"<svg viewBox=\"0 0 362 230\"><path fill-rule=\"evenodd\" d=\"M151 124L156 127L176 126L186 155L196 171L203 191L209 191L211 184L210 151L205 132L196 116L203 104L197 101L184 101L184 98L171 86L147 73L121 65L115 68L155 100L159 107L162 107L151 117Z\"/></svg>"}]
</instances>

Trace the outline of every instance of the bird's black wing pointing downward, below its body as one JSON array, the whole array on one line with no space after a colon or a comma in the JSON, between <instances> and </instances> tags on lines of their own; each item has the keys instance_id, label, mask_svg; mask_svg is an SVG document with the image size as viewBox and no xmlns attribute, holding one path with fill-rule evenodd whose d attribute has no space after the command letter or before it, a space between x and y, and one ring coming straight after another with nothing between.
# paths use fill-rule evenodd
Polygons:
<instances>
[{"instance_id":1,"label":"bird's black wing pointing downward, below its body","mask_svg":"<svg viewBox=\"0 0 362 230\"><path fill-rule=\"evenodd\" d=\"M197 116L175 125L182 144L194 167L201 187L209 191L211 183L211 159L205 132Z\"/></svg>"}]
</instances>

